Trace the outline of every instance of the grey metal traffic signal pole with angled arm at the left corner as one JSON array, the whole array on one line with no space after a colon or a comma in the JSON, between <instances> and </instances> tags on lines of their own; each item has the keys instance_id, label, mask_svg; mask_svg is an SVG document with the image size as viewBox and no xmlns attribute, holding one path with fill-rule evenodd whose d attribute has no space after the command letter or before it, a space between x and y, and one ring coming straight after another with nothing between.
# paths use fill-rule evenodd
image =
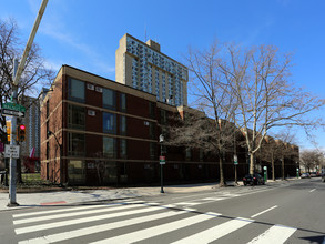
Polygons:
<instances>
[{"instance_id":1,"label":"grey metal traffic signal pole with angled arm at the left corner","mask_svg":"<svg viewBox=\"0 0 325 244\"><path fill-rule=\"evenodd\" d=\"M39 28L40 22L41 22L41 19L43 17L44 11L45 11L48 1L49 0L43 0L42 1L42 4L40 7L40 10L39 10L38 17L35 19L34 26L32 28L32 31L31 31L30 37L28 39L27 45L24 48L21 61L20 61L20 63L18 65L18 69L14 70L14 72L13 72L12 101L11 102L13 102L14 104L17 103L17 99L18 99L19 80L21 78L22 70L23 70L23 67L26 64L27 57L28 57L29 51L30 51L30 49L32 47L34 37L37 34L38 28ZM16 145L16 141L14 141L14 139L16 139L14 135L16 134L17 134L17 118L16 118L16 115L13 115L12 120L11 120L11 141L10 141L10 145ZM9 203L8 203L8 206L17 206L17 205L19 205L16 202L16 171L17 171L17 160L13 159L12 156L10 156L10 182L9 182Z\"/></svg>"}]
</instances>

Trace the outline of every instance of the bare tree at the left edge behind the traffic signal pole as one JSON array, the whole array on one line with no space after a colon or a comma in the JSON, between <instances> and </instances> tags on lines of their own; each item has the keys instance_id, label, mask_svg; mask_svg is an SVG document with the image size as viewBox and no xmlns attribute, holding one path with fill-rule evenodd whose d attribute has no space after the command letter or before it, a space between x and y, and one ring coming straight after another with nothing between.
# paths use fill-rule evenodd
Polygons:
<instances>
[{"instance_id":1,"label":"bare tree at the left edge behind the traffic signal pole","mask_svg":"<svg viewBox=\"0 0 325 244\"><path fill-rule=\"evenodd\" d=\"M13 88L14 59L20 59L26 41L20 40L17 23L13 19L0 19L0 102L10 102ZM26 95L40 94L42 85L49 85L54 78L54 72L45 68L39 45L33 44L22 70L18 84L19 103L24 101ZM28 109L28 108L27 108ZM0 115L0 139L7 141L6 116ZM13 139L11 139L13 140Z\"/></svg>"}]
</instances>

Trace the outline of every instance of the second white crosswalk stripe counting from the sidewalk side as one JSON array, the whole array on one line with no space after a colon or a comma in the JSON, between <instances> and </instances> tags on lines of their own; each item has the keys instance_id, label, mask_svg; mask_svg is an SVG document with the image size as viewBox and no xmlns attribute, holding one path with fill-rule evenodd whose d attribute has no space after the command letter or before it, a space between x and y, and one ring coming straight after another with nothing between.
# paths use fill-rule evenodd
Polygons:
<instances>
[{"instance_id":1,"label":"second white crosswalk stripe counting from the sidewalk side","mask_svg":"<svg viewBox=\"0 0 325 244\"><path fill-rule=\"evenodd\" d=\"M113 212L113 211L118 211L121 209L129 210L129 209L134 209L134 207L139 207L139 205L136 205L136 204L135 205L124 205L124 206L123 205L120 205L120 206L108 205L106 209L88 210L88 211L83 211L83 212L72 212L72 213L45 215L45 216L32 217L32 218L23 218L23 220L13 221L13 224L14 225L27 224L27 223L50 221L50 220L57 220L57 218L63 218L63 217L73 217L73 216L80 216L80 215L87 215L87 214Z\"/></svg>"}]
</instances>

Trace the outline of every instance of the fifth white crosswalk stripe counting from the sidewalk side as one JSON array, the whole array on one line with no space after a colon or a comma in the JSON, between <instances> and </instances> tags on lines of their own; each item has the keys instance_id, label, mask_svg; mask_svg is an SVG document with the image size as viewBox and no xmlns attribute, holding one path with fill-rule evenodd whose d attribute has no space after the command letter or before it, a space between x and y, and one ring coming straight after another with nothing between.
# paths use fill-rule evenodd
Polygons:
<instances>
[{"instance_id":1,"label":"fifth white crosswalk stripe counting from the sidewalk side","mask_svg":"<svg viewBox=\"0 0 325 244\"><path fill-rule=\"evenodd\" d=\"M186 227L196 223L201 223L203 221L207 221L215 217L215 215L213 214L199 214L195 215L193 217L186 217L180 221L174 221L167 224L162 224L162 225L158 225L154 227L149 227L145 230L141 230L141 231L136 231L136 232L132 232L132 233L128 233L124 235L119 235L115 237L111 237L111 238L105 238L105 240L101 240L99 242L93 242L92 244L126 244L126 243L133 243L133 242L139 242L145 238L150 238L150 237L154 237L161 234L165 234L167 232L171 231L175 231L182 227Z\"/></svg>"}]
</instances>

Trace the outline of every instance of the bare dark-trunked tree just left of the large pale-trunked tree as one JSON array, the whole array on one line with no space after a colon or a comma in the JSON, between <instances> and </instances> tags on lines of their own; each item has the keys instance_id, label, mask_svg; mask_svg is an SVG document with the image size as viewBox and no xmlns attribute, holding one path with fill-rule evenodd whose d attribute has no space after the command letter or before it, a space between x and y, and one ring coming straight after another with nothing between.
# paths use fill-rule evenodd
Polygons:
<instances>
[{"instance_id":1,"label":"bare dark-trunked tree just left of the large pale-trunked tree","mask_svg":"<svg viewBox=\"0 0 325 244\"><path fill-rule=\"evenodd\" d=\"M187 67L195 99L195 110L185 111L181 126L171 128L170 144L197 148L217 155L220 186L224 186L225 153L233 142L233 103L220 73L220 50L212 44L207 51L189 50Z\"/></svg>"}]
</instances>

